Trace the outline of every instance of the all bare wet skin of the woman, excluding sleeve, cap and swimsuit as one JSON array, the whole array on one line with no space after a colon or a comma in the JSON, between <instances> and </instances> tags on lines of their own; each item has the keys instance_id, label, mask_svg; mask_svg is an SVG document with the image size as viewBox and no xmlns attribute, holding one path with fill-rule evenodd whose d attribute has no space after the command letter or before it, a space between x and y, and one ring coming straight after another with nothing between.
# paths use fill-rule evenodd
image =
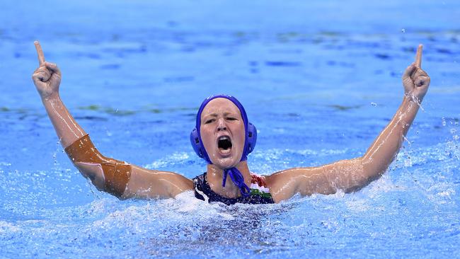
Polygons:
<instances>
[{"instance_id":1,"label":"all bare wet skin of the woman, excluding sleeve, cap and swimsuit","mask_svg":"<svg viewBox=\"0 0 460 259\"><path fill-rule=\"evenodd\" d=\"M56 64L45 62L38 42L35 42L39 67L33 73L33 82L47 110L62 146L66 148L83 137L86 132L74 120L59 96L61 72ZM275 202L287 200L293 195L313 193L330 194L338 190L360 190L379 178L398 154L420 103L430 86L430 77L421 69L422 46L418 47L415 62L403 73L403 102L393 119L376 137L362 157L336 161L324 166L291 168L265 177ZM207 165L207 180L214 192L224 197L239 197L239 189L226 179L222 187L224 169L236 167L242 173L246 185L250 185L251 172L246 161L241 161L244 145L244 125L241 113L234 103L225 98L211 100L202 112L200 132L203 145L212 164ZM229 145L219 145L219 138L226 137ZM103 190L105 178L100 165L75 163L76 168L94 185ZM181 192L193 190L192 180L167 171L156 171L132 165L131 177L122 198L176 197Z\"/></svg>"}]
</instances>

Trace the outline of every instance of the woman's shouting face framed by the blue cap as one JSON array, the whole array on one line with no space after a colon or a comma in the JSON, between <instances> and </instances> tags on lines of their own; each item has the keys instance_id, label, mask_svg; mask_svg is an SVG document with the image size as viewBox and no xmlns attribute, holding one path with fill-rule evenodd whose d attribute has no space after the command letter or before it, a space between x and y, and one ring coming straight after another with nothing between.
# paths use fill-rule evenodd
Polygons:
<instances>
[{"instance_id":1,"label":"woman's shouting face framed by the blue cap","mask_svg":"<svg viewBox=\"0 0 460 259\"><path fill-rule=\"evenodd\" d=\"M201 113L200 134L215 166L227 169L239 163L245 139L244 122L231 100L215 98L207 103Z\"/></svg>"}]
</instances>

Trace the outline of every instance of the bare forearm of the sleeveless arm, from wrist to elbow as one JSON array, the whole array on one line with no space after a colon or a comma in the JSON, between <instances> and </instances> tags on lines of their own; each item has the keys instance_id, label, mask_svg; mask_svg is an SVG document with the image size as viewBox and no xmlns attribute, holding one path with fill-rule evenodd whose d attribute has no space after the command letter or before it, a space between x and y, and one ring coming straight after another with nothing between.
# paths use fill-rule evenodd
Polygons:
<instances>
[{"instance_id":1,"label":"bare forearm of the sleeveless arm, from wrist to elbow","mask_svg":"<svg viewBox=\"0 0 460 259\"><path fill-rule=\"evenodd\" d=\"M363 173L369 180L374 180L383 174L396 158L419 108L420 105L413 98L405 96L389 125L362 156Z\"/></svg>"}]
</instances>

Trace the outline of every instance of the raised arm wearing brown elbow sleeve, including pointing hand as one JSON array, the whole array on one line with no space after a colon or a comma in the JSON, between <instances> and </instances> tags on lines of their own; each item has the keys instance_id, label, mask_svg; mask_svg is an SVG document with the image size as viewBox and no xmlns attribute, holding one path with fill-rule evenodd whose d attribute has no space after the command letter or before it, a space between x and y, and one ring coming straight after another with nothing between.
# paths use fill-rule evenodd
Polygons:
<instances>
[{"instance_id":1,"label":"raised arm wearing brown elbow sleeve, including pointing hand","mask_svg":"<svg viewBox=\"0 0 460 259\"><path fill-rule=\"evenodd\" d=\"M45 62L38 42L35 42L39 67L32 79L42 98L57 137L74 166L82 175L105 192L119 198L175 197L191 190L190 179L177 173L152 171L103 156L94 147L88 134L80 127L59 96L61 72L56 64Z\"/></svg>"}]
</instances>

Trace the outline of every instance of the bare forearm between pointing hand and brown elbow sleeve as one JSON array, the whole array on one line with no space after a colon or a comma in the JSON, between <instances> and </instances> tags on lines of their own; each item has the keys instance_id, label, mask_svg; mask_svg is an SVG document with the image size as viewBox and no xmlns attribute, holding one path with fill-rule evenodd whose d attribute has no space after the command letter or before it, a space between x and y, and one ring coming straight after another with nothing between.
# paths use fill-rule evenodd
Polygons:
<instances>
[{"instance_id":1,"label":"bare forearm between pointing hand and brown elbow sleeve","mask_svg":"<svg viewBox=\"0 0 460 259\"><path fill-rule=\"evenodd\" d=\"M69 110L62 103L59 94L50 96L50 98L42 98L42 103L45 105L57 137L64 148L86 135L84 129L76 123L74 117L70 115Z\"/></svg>"}]
</instances>

